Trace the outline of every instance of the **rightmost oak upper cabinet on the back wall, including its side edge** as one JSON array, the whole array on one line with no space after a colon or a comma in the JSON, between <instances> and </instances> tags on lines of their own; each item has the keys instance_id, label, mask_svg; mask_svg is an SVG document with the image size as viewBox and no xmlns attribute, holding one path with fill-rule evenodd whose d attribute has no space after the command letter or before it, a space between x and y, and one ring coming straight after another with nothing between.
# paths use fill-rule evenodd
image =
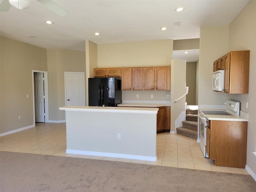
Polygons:
<instances>
[{"instance_id":1,"label":"rightmost oak upper cabinet on the back wall, including its side edge","mask_svg":"<svg viewBox=\"0 0 256 192\"><path fill-rule=\"evenodd\" d=\"M170 90L170 66L156 67L156 90Z\"/></svg>"}]
</instances>

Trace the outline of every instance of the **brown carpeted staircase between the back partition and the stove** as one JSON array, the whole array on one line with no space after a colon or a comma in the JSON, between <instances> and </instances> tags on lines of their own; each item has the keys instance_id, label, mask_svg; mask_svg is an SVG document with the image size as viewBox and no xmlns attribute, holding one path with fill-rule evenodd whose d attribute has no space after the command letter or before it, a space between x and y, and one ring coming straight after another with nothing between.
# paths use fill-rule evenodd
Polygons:
<instances>
[{"instance_id":1,"label":"brown carpeted staircase between the back partition and the stove","mask_svg":"<svg viewBox=\"0 0 256 192\"><path fill-rule=\"evenodd\" d=\"M198 126L198 109L190 109L186 107L186 120L182 121L183 126L176 128L177 134L184 135L193 139L197 139L197 126Z\"/></svg>"}]
</instances>

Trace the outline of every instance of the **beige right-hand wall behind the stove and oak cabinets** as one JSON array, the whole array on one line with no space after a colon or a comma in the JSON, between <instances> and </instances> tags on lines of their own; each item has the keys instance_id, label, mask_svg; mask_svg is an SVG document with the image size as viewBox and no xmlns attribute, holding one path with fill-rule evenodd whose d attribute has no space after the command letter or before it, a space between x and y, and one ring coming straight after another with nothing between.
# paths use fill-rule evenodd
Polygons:
<instances>
[{"instance_id":1,"label":"beige right-hand wall behind the stove and oak cabinets","mask_svg":"<svg viewBox=\"0 0 256 192\"><path fill-rule=\"evenodd\" d=\"M247 162L256 175L256 1L250 1L230 24L229 50L250 50L249 94L227 94L229 99L240 101L240 109L249 113ZM254 18L254 19L252 19ZM248 102L248 109L246 108Z\"/></svg>"}]
</instances>

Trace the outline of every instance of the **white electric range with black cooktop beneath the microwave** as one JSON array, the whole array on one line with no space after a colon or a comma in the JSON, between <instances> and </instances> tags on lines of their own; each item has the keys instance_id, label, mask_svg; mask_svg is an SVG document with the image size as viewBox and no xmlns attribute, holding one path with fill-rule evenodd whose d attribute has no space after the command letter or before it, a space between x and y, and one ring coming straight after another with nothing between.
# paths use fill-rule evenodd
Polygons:
<instances>
[{"instance_id":1,"label":"white electric range with black cooktop beneath the microwave","mask_svg":"<svg viewBox=\"0 0 256 192\"><path fill-rule=\"evenodd\" d=\"M205 157L209 157L206 152L206 121L207 115L240 115L240 102L234 100L226 100L224 103L225 109L199 109L199 137L200 137L200 148Z\"/></svg>"}]
</instances>

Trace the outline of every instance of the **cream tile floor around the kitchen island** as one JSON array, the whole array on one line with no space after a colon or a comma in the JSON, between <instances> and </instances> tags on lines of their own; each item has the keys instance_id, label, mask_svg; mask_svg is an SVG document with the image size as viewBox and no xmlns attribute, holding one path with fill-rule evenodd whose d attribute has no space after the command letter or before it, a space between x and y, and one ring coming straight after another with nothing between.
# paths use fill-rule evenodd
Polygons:
<instances>
[{"instance_id":1,"label":"cream tile floor around the kitchen island","mask_svg":"<svg viewBox=\"0 0 256 192\"><path fill-rule=\"evenodd\" d=\"M2 136L0 150L248 174L245 169L214 166L212 160L204 158L196 140L170 133L157 134L156 162L67 154L65 123L36 123L33 128Z\"/></svg>"}]
</instances>

